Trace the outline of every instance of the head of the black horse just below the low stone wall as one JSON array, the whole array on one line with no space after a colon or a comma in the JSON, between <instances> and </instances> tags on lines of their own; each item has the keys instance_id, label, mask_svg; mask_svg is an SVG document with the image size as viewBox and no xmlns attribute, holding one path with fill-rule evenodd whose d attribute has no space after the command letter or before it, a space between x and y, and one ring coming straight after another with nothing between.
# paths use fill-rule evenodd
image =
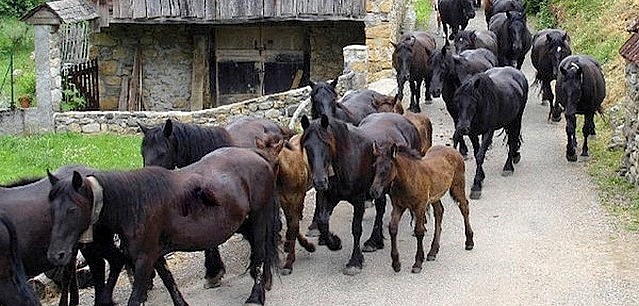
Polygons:
<instances>
[{"instance_id":1,"label":"head of the black horse just below the low stone wall","mask_svg":"<svg viewBox=\"0 0 639 306\"><path fill-rule=\"evenodd\" d=\"M173 140L173 122L166 119L163 126L148 128L138 123L142 138L142 160L144 166L176 167L177 148Z\"/></svg>"}]
</instances>

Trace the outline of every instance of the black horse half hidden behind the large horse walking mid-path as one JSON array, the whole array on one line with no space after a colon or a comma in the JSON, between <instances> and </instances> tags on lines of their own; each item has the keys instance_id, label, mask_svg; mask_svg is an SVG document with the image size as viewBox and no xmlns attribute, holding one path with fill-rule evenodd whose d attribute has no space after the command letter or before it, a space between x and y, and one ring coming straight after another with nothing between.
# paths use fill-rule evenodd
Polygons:
<instances>
[{"instance_id":1,"label":"black horse half hidden behind the large horse walking mid-path","mask_svg":"<svg viewBox=\"0 0 639 306\"><path fill-rule=\"evenodd\" d=\"M497 65L497 58L487 49L466 50L460 55L453 54L447 47L436 51L431 58L433 67L433 80L430 88L433 97L440 94L446 103L446 109L457 125L459 121L459 109L454 103L455 91L461 84L473 75L484 72ZM468 154L468 147L464 138L455 133L453 135L453 147L459 144L459 151L463 156ZM475 147L477 150L477 147Z\"/></svg>"}]
</instances>

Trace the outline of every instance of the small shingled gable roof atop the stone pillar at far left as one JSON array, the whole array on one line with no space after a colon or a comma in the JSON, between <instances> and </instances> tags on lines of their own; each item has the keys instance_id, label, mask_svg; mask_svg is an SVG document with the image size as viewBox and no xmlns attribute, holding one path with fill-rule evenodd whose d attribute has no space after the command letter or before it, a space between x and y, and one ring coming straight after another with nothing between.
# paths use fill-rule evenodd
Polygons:
<instances>
[{"instance_id":1,"label":"small shingled gable roof atop the stone pillar at far left","mask_svg":"<svg viewBox=\"0 0 639 306\"><path fill-rule=\"evenodd\" d=\"M93 4L84 0L51 1L38 5L20 20L31 24L61 24L98 18Z\"/></svg>"}]
</instances>

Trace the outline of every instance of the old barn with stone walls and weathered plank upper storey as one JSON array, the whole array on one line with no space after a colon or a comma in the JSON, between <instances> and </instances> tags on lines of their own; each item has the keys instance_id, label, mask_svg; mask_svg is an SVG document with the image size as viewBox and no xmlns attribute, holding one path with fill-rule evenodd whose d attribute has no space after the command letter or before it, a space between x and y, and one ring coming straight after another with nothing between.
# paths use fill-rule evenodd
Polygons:
<instances>
[{"instance_id":1,"label":"old barn with stone walls and weathered plank upper storey","mask_svg":"<svg viewBox=\"0 0 639 306\"><path fill-rule=\"evenodd\" d=\"M58 18L56 26L63 31L55 30L62 33L63 45L86 45L80 47L87 50L84 62L94 59L98 75L94 94L99 104L91 108L200 110L335 78L344 69L342 49L347 45L381 46L381 52L373 53L388 60L377 63L377 70L390 68L389 42L398 26L388 19L398 15L393 7L405 3L63 0L43 4L23 20L38 25L44 17ZM69 22L64 15L77 6L92 7L91 18ZM79 31L85 31L86 39L75 43L82 36ZM380 32L385 36L381 41L371 39ZM62 67L72 67L83 61L62 62ZM70 78L65 73L63 83ZM91 85L77 87L86 91Z\"/></svg>"}]
</instances>

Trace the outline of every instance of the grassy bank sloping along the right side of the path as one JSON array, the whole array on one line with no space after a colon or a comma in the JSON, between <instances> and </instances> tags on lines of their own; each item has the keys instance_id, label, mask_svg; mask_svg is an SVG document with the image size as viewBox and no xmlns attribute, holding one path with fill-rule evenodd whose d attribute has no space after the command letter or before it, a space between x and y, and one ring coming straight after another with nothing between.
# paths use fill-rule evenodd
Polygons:
<instances>
[{"instance_id":1,"label":"grassy bank sloping along the right side of the path","mask_svg":"<svg viewBox=\"0 0 639 306\"><path fill-rule=\"evenodd\" d=\"M573 52L590 54L602 64L606 78L605 108L623 102L625 95L625 61L619 48L630 37L625 31L639 16L637 0L550 0L547 11L537 16L548 24L551 16L556 26L567 30ZM608 121L610 122L610 120ZM600 190L602 204L623 224L639 230L639 189L617 175L623 157L621 150L609 150L613 127L598 120L597 140L591 146L589 172Z\"/></svg>"}]
</instances>

